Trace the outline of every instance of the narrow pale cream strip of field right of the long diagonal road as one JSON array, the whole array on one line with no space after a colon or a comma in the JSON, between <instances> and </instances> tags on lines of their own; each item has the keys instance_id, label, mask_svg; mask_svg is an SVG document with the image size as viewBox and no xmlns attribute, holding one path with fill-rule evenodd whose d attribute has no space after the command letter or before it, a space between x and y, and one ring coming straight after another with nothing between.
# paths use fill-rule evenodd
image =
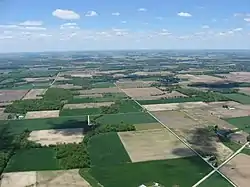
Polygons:
<instances>
[{"instance_id":1,"label":"narrow pale cream strip of field right of the long diagonal road","mask_svg":"<svg viewBox=\"0 0 250 187\"><path fill-rule=\"evenodd\" d=\"M186 102L186 103L152 104L143 106L151 112L157 112L166 110L203 108L206 107L207 104L204 102Z\"/></svg>"}]
</instances>

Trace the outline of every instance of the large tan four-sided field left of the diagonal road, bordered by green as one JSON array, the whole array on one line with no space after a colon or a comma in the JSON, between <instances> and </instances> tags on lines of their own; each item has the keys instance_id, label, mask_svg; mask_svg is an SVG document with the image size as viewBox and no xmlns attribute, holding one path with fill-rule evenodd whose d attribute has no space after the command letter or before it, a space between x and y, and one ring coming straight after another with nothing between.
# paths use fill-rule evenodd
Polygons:
<instances>
[{"instance_id":1,"label":"large tan four-sided field left of the diagonal road, bordered by green","mask_svg":"<svg viewBox=\"0 0 250 187\"><path fill-rule=\"evenodd\" d=\"M132 162L193 155L191 150L166 129L119 132L118 134Z\"/></svg>"}]
</instances>

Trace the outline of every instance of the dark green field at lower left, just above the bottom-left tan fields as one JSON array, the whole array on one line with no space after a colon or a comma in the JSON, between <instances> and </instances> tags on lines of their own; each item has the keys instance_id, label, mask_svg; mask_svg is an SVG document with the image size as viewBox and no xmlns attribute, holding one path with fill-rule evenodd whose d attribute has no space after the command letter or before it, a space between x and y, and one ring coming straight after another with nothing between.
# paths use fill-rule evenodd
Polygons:
<instances>
[{"instance_id":1,"label":"dark green field at lower left, just above the bottom-left tan fields","mask_svg":"<svg viewBox=\"0 0 250 187\"><path fill-rule=\"evenodd\" d=\"M17 151L5 172L60 169L54 148L35 148Z\"/></svg>"}]
</instances>

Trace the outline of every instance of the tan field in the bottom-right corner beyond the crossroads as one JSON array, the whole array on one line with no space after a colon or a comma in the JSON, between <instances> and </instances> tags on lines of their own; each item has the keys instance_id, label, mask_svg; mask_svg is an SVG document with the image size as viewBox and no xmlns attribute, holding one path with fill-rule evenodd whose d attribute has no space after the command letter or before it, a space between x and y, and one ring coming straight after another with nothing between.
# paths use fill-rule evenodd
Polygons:
<instances>
[{"instance_id":1,"label":"tan field in the bottom-right corner beyond the crossroads","mask_svg":"<svg viewBox=\"0 0 250 187\"><path fill-rule=\"evenodd\" d=\"M250 156L240 153L225 164L220 171L236 185L248 187L250 181Z\"/></svg>"}]
</instances>

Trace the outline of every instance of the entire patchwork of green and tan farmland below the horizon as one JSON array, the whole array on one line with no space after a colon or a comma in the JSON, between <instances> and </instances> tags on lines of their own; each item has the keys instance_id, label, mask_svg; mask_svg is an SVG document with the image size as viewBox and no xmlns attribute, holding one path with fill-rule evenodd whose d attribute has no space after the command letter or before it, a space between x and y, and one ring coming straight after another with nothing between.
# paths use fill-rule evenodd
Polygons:
<instances>
[{"instance_id":1,"label":"entire patchwork of green and tan farmland below the horizon","mask_svg":"<svg viewBox=\"0 0 250 187\"><path fill-rule=\"evenodd\" d=\"M191 187L249 139L245 53L38 54L0 56L0 187ZM198 186L247 187L249 152Z\"/></svg>"}]
</instances>

